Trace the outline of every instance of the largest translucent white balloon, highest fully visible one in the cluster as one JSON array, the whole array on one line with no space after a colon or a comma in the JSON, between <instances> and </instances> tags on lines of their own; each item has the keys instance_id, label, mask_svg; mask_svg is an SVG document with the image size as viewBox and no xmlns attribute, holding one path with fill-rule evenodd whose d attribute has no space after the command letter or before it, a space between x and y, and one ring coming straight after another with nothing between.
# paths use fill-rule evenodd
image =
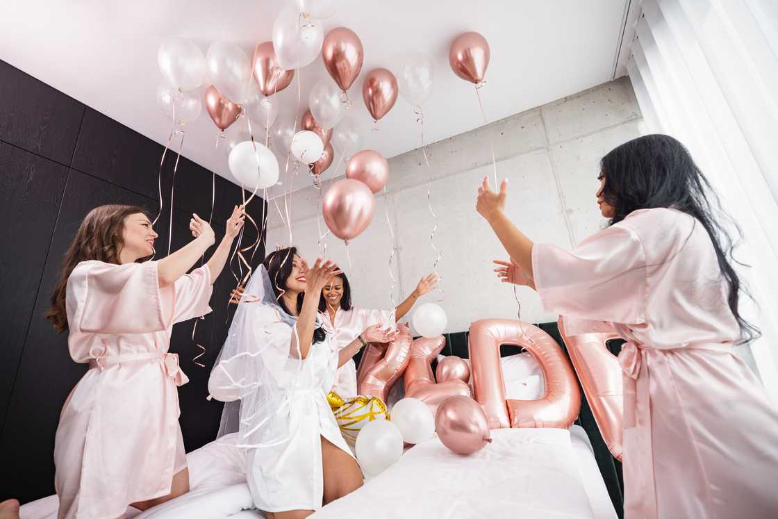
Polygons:
<instances>
[{"instance_id":1,"label":"largest translucent white balloon, highest fully visible one in the cluster","mask_svg":"<svg viewBox=\"0 0 778 519\"><path fill-rule=\"evenodd\" d=\"M284 9L273 23L275 61L284 70L310 65L321 52L324 30L317 19L306 18L292 6Z\"/></svg>"}]
</instances>

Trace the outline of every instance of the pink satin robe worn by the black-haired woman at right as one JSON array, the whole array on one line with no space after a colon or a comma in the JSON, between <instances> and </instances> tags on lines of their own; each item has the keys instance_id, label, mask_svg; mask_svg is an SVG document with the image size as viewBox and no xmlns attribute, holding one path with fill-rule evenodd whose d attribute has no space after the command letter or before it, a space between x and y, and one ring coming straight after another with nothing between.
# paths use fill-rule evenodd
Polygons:
<instances>
[{"instance_id":1,"label":"pink satin robe worn by the black-haired woman at right","mask_svg":"<svg viewBox=\"0 0 778 519\"><path fill-rule=\"evenodd\" d=\"M778 517L778 412L732 351L738 323L702 224L642 209L573 252L535 244L532 268L546 310L628 341L625 517Z\"/></svg>"}]
</instances>

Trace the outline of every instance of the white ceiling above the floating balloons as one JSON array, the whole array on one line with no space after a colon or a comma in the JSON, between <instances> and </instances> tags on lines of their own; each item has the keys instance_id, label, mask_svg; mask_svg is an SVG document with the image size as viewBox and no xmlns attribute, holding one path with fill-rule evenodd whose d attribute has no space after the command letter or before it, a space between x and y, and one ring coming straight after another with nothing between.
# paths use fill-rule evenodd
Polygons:
<instances>
[{"instance_id":1,"label":"white ceiling above the floating balloons","mask_svg":"<svg viewBox=\"0 0 778 519\"><path fill-rule=\"evenodd\" d=\"M209 44L226 40L251 56L254 44L272 39L273 21L286 4L2 0L0 59L164 144L170 121L156 105L156 87L162 79L156 65L160 42L166 37L189 38L205 54ZM361 93L370 69L392 69L408 52L421 51L433 58L435 86L424 108L426 141L435 142L483 124L473 86L457 78L448 65L448 47L458 34L475 30L489 41L491 61L480 92L491 122L611 80L628 0L335 0L335 4L335 16L324 20L324 32L347 26L359 35L365 52L362 72L349 90L351 114L363 128L365 147L391 157L419 147L419 127L412 107L400 96L379 121L379 131L371 130L372 118ZM310 86L326 74L321 57L302 69L300 113L307 109ZM200 94L204 91L205 86ZM298 109L296 79L276 95L282 97L282 110ZM232 180L226 155L214 150L216 135L204 109L187 127L184 155Z\"/></svg>"}]
</instances>

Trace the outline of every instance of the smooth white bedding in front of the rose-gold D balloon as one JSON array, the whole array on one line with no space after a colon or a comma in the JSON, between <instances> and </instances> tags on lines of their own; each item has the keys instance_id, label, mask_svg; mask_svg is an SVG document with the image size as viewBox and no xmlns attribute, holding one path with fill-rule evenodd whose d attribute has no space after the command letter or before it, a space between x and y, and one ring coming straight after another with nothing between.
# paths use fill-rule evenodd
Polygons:
<instances>
[{"instance_id":1,"label":"smooth white bedding in front of the rose-gold D balloon","mask_svg":"<svg viewBox=\"0 0 778 519\"><path fill-rule=\"evenodd\" d=\"M569 431L502 429L492 438L470 456L426 440L311 517L594 517Z\"/></svg>"}]
</instances>

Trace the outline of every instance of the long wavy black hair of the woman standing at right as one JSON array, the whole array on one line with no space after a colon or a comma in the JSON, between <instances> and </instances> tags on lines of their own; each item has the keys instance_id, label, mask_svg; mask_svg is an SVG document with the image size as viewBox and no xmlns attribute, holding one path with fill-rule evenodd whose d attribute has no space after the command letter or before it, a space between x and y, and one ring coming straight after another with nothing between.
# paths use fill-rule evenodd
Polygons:
<instances>
[{"instance_id":1,"label":"long wavy black hair of the woman standing at right","mask_svg":"<svg viewBox=\"0 0 778 519\"><path fill-rule=\"evenodd\" d=\"M742 232L721 209L716 193L689 150L668 135L644 135L612 149L600 166L605 176L602 197L615 208L610 225L637 209L659 207L685 212L703 224L727 283L727 303L738 320L741 343L759 337L759 328L745 321L738 310L740 293L748 292L732 266L737 261L732 256L734 242L722 222L731 223L740 238Z\"/></svg>"}]
</instances>

